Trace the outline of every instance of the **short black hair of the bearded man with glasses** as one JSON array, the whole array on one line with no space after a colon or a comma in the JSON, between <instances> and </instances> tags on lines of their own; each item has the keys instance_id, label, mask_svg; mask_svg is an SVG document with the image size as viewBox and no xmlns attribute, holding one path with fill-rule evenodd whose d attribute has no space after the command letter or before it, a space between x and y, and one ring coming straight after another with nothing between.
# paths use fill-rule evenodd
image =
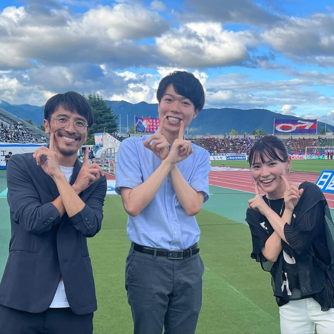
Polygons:
<instances>
[{"instance_id":1,"label":"short black hair of the bearded man with glasses","mask_svg":"<svg viewBox=\"0 0 334 334\"><path fill-rule=\"evenodd\" d=\"M49 117L57 111L59 106L71 111L72 113L76 111L79 115L85 117L89 128L94 123L94 113L92 107L87 99L79 93L69 91L63 94L56 94L47 100L44 107L44 119L48 120Z\"/></svg>"}]
</instances>

